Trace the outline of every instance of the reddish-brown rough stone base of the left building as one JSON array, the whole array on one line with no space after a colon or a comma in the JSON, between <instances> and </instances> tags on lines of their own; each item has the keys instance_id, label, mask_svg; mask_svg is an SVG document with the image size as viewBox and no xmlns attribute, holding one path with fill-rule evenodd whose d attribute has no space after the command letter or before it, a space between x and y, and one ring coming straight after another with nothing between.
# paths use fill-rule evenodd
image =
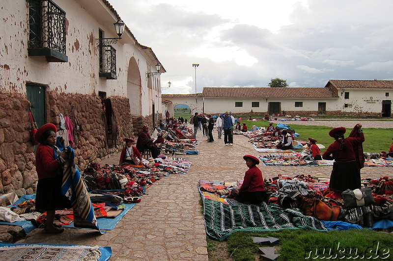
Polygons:
<instances>
[{"instance_id":1,"label":"reddish-brown rough stone base of the left building","mask_svg":"<svg viewBox=\"0 0 393 261\"><path fill-rule=\"evenodd\" d=\"M71 145L80 170L90 162L100 162L109 154L119 152L124 146L124 138L134 138L128 98L109 97L113 111L111 133L105 129L99 96L49 91L46 98L47 122L59 128L61 113L83 128L74 135L74 144ZM0 94L0 194L16 192L22 196L36 192L38 176L28 105L24 95Z\"/></svg>"}]
</instances>

